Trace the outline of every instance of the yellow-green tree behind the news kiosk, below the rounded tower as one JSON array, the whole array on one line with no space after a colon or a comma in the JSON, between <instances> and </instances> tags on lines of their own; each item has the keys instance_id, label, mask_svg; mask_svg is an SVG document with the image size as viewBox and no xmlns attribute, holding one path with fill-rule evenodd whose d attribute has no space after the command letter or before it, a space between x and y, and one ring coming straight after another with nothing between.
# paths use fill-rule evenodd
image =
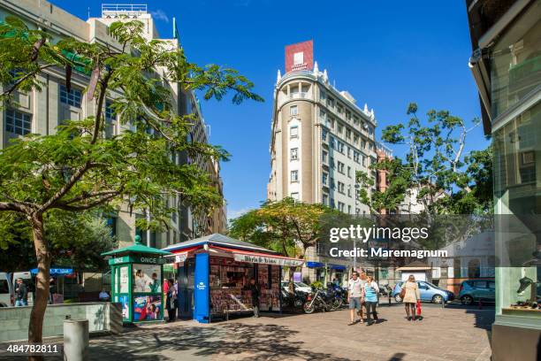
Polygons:
<instances>
[{"instance_id":1,"label":"yellow-green tree behind the news kiosk, below the rounded tower","mask_svg":"<svg viewBox=\"0 0 541 361\"><path fill-rule=\"evenodd\" d=\"M324 217L333 211L324 204L305 204L293 198L264 202L259 209L232 219L229 234L243 241L303 259L310 247L322 238ZM293 280L290 268L290 281Z\"/></svg>"}]
</instances>

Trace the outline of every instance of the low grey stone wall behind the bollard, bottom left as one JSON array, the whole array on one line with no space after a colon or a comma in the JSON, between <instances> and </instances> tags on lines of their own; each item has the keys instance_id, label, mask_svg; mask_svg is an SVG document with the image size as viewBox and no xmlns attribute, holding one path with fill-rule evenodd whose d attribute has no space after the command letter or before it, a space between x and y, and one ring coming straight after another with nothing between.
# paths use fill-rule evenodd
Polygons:
<instances>
[{"instance_id":1,"label":"low grey stone wall behind the bollard, bottom left","mask_svg":"<svg viewBox=\"0 0 541 361\"><path fill-rule=\"evenodd\" d=\"M27 340L31 310L30 306L0 308L0 342ZM62 336L66 317L88 319L90 334L122 332L120 303L65 303L47 306L43 337Z\"/></svg>"}]
</instances>

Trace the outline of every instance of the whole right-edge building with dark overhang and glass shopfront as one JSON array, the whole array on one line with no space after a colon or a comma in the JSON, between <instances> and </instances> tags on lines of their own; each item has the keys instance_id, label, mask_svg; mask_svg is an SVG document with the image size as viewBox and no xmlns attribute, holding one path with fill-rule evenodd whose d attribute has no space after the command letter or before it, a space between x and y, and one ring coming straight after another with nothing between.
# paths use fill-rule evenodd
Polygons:
<instances>
[{"instance_id":1,"label":"whole right-edge building with dark overhang and glass shopfront","mask_svg":"<svg viewBox=\"0 0 541 361\"><path fill-rule=\"evenodd\" d=\"M469 68L494 157L499 264L492 359L539 359L541 311L534 310L541 284L541 1L466 0L466 8ZM510 234L511 226L522 229L521 237ZM532 300L535 308L515 306Z\"/></svg>"}]
</instances>

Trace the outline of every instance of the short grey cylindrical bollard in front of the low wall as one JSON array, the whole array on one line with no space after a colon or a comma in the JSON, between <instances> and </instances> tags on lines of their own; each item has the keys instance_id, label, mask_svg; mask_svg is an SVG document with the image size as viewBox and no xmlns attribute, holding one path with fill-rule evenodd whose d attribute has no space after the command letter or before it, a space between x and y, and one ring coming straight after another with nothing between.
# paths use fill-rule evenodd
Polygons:
<instances>
[{"instance_id":1,"label":"short grey cylindrical bollard in front of the low wall","mask_svg":"<svg viewBox=\"0 0 541 361\"><path fill-rule=\"evenodd\" d=\"M88 359L88 319L65 319L64 361Z\"/></svg>"}]
</instances>

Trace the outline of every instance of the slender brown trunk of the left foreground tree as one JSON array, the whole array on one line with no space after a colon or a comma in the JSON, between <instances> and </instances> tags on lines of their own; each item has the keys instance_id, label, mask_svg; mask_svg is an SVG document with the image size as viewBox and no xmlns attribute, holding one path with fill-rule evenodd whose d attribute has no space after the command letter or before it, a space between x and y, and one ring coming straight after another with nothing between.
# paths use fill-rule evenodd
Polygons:
<instances>
[{"instance_id":1,"label":"slender brown trunk of the left foreground tree","mask_svg":"<svg viewBox=\"0 0 541 361\"><path fill-rule=\"evenodd\" d=\"M38 273L35 278L35 297L30 323L28 325L28 343L42 343L43 317L49 300L50 280L50 251L43 234L43 215L34 214L30 219L34 235L35 257L37 258ZM42 361L43 357L31 356L30 361Z\"/></svg>"}]
</instances>

